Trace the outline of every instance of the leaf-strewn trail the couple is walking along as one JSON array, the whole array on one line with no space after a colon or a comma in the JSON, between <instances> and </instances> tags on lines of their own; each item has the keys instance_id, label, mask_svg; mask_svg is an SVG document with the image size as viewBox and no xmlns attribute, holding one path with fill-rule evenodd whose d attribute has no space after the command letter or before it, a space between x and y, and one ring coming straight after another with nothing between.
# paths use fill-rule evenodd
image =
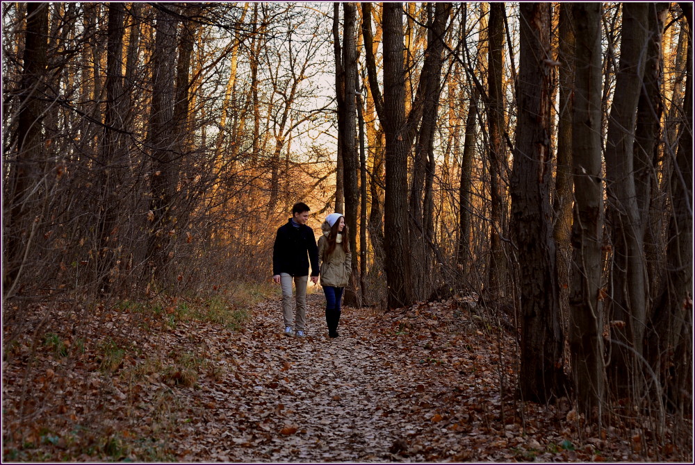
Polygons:
<instances>
[{"instance_id":1,"label":"leaf-strewn trail the couple is walking along","mask_svg":"<svg viewBox=\"0 0 695 465\"><path fill-rule=\"evenodd\" d=\"M229 462L391 462L432 457L450 422L434 399L438 370L407 331L344 309L328 339L323 297L309 296L305 339L281 335L279 302L264 303L239 340L229 375L202 391L180 430L179 457ZM417 339L415 339L417 341ZM420 353L422 352L422 353ZM227 398L222 398L227 396ZM434 421L433 421L434 418ZM444 434L441 434L444 433ZM417 439L415 441L414 439ZM439 439L441 441L441 438ZM425 446L425 444L427 444ZM454 443L451 446L455 446ZM440 459L459 447L441 444Z\"/></svg>"}]
</instances>

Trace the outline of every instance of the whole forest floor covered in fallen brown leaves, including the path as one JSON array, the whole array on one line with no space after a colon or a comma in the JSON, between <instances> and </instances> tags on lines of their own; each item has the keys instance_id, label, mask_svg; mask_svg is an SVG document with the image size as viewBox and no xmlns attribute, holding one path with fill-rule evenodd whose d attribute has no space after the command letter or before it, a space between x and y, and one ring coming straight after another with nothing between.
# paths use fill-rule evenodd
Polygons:
<instances>
[{"instance_id":1,"label":"whole forest floor covered in fallen brown leaves, including the path","mask_svg":"<svg viewBox=\"0 0 695 465\"><path fill-rule=\"evenodd\" d=\"M15 337L4 347L3 459L692 460L672 430L657 440L633 419L598 432L564 399L514 400L516 341L462 299L345 308L338 339L327 338L322 305L309 296L305 339L281 335L277 300L239 331L177 321L173 307L126 308L104 311L98 341L82 350L70 335ZM74 318L65 313L66 328Z\"/></svg>"}]
</instances>

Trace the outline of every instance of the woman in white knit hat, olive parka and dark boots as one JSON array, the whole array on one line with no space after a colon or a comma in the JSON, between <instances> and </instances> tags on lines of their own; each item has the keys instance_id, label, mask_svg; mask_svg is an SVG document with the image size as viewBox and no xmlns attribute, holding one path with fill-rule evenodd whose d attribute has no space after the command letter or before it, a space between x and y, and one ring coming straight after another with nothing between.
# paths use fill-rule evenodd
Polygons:
<instances>
[{"instance_id":1,"label":"woman in white knit hat, olive parka and dark boots","mask_svg":"<svg viewBox=\"0 0 695 465\"><path fill-rule=\"evenodd\" d=\"M340 213L332 213L321 225L323 235L318 238L318 260L321 269L321 286L326 294L326 323L328 336L338 337L338 321L341 319L343 289L350 279L350 246L347 244L347 225Z\"/></svg>"}]
</instances>

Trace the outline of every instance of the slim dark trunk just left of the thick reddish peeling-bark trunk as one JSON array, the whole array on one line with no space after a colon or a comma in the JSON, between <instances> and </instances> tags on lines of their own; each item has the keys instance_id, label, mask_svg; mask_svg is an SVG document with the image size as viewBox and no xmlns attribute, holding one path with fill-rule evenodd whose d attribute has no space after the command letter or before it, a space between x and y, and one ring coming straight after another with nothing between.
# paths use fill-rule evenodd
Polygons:
<instances>
[{"instance_id":1,"label":"slim dark trunk just left of the thick reddish peeling-bark trunk","mask_svg":"<svg viewBox=\"0 0 695 465\"><path fill-rule=\"evenodd\" d=\"M502 133L505 130L505 98L502 93L502 47L504 45L504 3L490 4L488 58L488 133L490 160L490 266L486 294L496 300L505 296L505 251L500 234L503 231L504 202L502 194L502 163L507 159Z\"/></svg>"}]
</instances>

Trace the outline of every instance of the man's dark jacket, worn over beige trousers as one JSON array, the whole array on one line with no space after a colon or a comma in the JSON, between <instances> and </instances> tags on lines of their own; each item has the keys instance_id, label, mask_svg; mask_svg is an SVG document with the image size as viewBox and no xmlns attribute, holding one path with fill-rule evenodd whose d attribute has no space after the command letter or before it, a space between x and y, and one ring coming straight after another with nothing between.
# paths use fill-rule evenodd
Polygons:
<instances>
[{"instance_id":1,"label":"man's dark jacket, worn over beige trousers","mask_svg":"<svg viewBox=\"0 0 695 465\"><path fill-rule=\"evenodd\" d=\"M307 257L307 253L309 253ZM292 225L292 219L277 228L275 244L272 246L272 274L287 273L290 276L318 276L318 247L313 230L301 224Z\"/></svg>"}]
</instances>

